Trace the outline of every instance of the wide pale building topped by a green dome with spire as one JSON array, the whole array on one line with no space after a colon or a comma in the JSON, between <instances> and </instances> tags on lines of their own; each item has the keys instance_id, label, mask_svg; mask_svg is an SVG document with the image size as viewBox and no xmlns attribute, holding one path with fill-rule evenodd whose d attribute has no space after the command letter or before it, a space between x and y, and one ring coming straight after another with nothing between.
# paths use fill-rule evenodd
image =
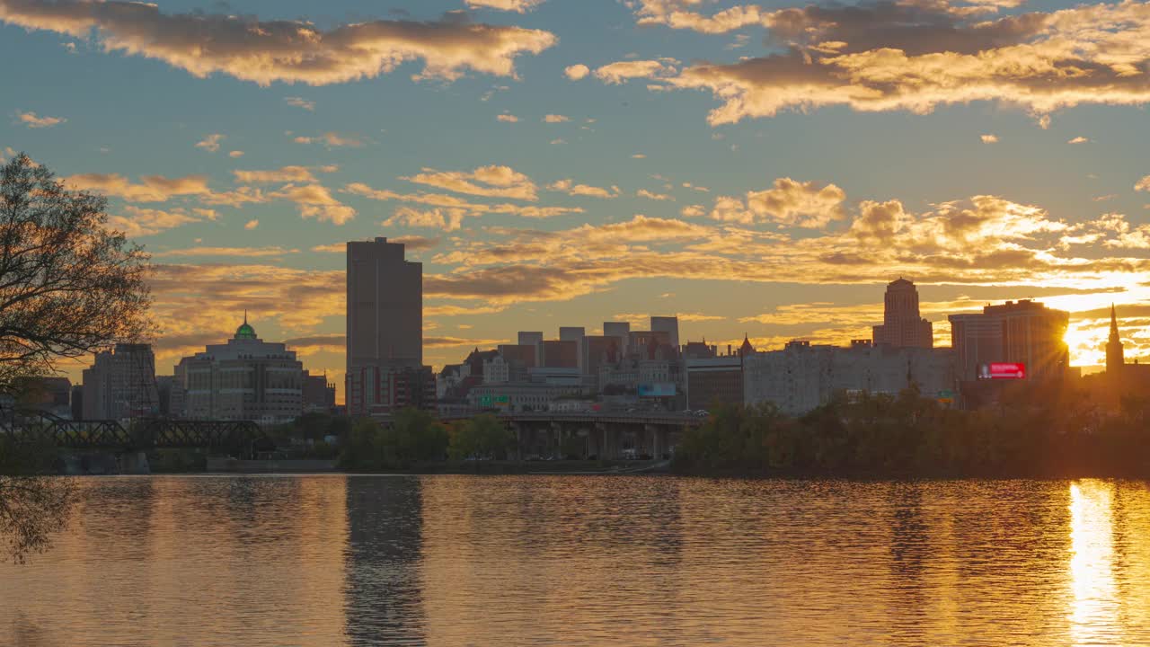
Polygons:
<instances>
[{"instance_id":1,"label":"wide pale building topped by a green dome with spire","mask_svg":"<svg viewBox=\"0 0 1150 647\"><path fill-rule=\"evenodd\" d=\"M228 343L179 360L172 399L183 418L286 423L304 411L304 364L285 344L261 340L245 312Z\"/></svg>"}]
</instances>

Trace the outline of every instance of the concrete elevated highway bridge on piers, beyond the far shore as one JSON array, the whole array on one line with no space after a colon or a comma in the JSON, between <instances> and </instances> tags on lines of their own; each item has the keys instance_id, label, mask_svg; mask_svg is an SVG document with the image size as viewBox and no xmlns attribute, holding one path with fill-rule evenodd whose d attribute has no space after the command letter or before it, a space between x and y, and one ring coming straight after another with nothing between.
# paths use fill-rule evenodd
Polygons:
<instances>
[{"instance_id":1,"label":"concrete elevated highway bridge on piers, beyond the far shore","mask_svg":"<svg viewBox=\"0 0 1150 647\"><path fill-rule=\"evenodd\" d=\"M475 413L444 416L439 419L450 423L474 416ZM514 432L520 458L670 458L682 432L706 421L706 418L690 413L650 411L540 411L493 416Z\"/></svg>"}]
</instances>

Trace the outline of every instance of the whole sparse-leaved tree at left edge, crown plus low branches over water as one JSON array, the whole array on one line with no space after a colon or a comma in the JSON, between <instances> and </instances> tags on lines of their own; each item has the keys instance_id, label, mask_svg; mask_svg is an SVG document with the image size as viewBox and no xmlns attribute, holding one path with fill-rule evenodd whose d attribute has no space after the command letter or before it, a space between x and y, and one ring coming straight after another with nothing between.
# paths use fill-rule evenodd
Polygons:
<instances>
[{"instance_id":1,"label":"whole sparse-leaved tree at left edge, crown plus low branches over water","mask_svg":"<svg viewBox=\"0 0 1150 647\"><path fill-rule=\"evenodd\" d=\"M151 329L148 257L108 227L106 206L23 153L0 167L0 393ZM75 501L70 481L41 475L51 457L26 439L0 447L0 534L17 561L47 547Z\"/></svg>"}]
</instances>

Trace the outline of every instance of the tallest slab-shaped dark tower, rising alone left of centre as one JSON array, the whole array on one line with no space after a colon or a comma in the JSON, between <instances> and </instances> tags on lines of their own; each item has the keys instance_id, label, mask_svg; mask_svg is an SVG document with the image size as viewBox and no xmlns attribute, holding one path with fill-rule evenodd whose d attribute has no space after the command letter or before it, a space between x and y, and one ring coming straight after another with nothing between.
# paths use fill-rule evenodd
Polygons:
<instances>
[{"instance_id":1,"label":"tallest slab-shaped dark tower, rising alone left of centre","mask_svg":"<svg viewBox=\"0 0 1150 647\"><path fill-rule=\"evenodd\" d=\"M383 237L347 243L346 361L351 416L366 414L368 401L378 402L373 389L382 375L422 368L423 264L405 260L402 243Z\"/></svg>"}]
</instances>

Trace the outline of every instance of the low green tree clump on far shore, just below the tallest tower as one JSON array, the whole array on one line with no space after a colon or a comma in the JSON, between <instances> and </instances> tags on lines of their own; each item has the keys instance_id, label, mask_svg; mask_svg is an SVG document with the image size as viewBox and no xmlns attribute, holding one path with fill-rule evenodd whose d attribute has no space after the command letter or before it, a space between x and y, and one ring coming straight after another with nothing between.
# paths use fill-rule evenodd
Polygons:
<instances>
[{"instance_id":1,"label":"low green tree clump on far shore, just below the tallest tower","mask_svg":"<svg viewBox=\"0 0 1150 647\"><path fill-rule=\"evenodd\" d=\"M491 414L444 425L427 411L404 409L386 426L369 418L355 420L339 467L408 470L420 463L506 459L514 449L515 436Z\"/></svg>"}]
</instances>

